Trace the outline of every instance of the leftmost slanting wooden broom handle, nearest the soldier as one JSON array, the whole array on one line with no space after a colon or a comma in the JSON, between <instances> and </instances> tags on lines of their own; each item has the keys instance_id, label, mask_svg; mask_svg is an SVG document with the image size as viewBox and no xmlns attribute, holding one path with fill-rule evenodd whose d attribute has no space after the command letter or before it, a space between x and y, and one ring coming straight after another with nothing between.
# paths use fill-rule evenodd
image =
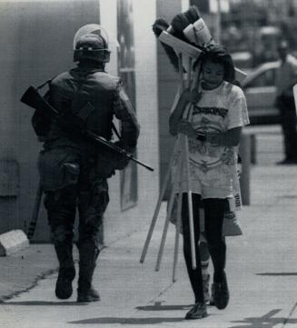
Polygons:
<instances>
[{"instance_id":1,"label":"leftmost slanting wooden broom handle, nearest the soldier","mask_svg":"<svg viewBox=\"0 0 297 328\"><path fill-rule=\"evenodd\" d=\"M145 243L144 243L144 249L143 249L143 252L142 252L142 255L141 255L140 263L144 263L144 258L145 258L145 255L147 253L147 249L148 249L149 244L150 244L151 239L152 239L153 229L154 229L154 226L156 224L156 221L157 221L157 218L158 218L158 215L159 215L159 212L160 212L160 207L161 207L161 204L162 204L162 201L163 201L163 195L165 194L166 187L167 187L167 184L169 182L169 177L170 177L170 174L171 174L171 167L173 165L173 159L174 159L174 152L171 155L171 158L170 158L170 161L169 161L169 164L168 164L167 173L166 173L164 181L163 181L162 190L161 190L161 193L159 194L158 203L156 204L155 209L154 209L153 220L152 220L152 223L150 225L150 228L149 228L149 231L148 231Z\"/></svg>"}]
</instances>

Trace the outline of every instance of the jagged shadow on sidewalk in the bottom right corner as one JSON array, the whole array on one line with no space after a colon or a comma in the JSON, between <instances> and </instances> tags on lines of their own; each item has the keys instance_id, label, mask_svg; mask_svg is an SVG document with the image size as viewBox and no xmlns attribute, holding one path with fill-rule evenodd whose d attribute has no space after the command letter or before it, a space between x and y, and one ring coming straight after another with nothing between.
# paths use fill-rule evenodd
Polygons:
<instances>
[{"instance_id":1,"label":"jagged shadow on sidewalk in the bottom right corner","mask_svg":"<svg viewBox=\"0 0 297 328\"><path fill-rule=\"evenodd\" d=\"M296 304L295 304L296 306ZM243 321L234 321L232 323L239 323L239 325L233 325L229 328L273 328L282 324L284 327L286 324L297 323L297 319L293 318L272 318L273 315L282 311L281 309L275 309L262 315L261 317L245 318ZM244 324L245 323L245 324Z\"/></svg>"}]
</instances>

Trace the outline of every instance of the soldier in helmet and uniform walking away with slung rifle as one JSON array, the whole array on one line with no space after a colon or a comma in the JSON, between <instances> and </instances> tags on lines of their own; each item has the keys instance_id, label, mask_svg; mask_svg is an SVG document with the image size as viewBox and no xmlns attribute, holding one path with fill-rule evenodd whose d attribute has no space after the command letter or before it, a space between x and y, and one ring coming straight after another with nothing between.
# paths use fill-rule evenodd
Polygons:
<instances>
[{"instance_id":1,"label":"soldier in helmet and uniform walking away with slung rifle","mask_svg":"<svg viewBox=\"0 0 297 328\"><path fill-rule=\"evenodd\" d=\"M120 78L104 71L110 60L107 37L100 25L84 25L74 37L77 67L57 75L49 83L46 100L59 113L84 120L87 130L111 140L114 116L121 123L117 145L133 153L139 135L134 109L124 93ZM73 293L74 219L79 214L79 278L77 302L99 301L92 278L99 255L98 234L109 202L107 178L122 170L128 160L122 154L98 147L81 135L69 134L56 120L35 111L32 119L44 150L38 166L45 191L45 208L54 250L59 262L55 295L67 299Z\"/></svg>"}]
</instances>

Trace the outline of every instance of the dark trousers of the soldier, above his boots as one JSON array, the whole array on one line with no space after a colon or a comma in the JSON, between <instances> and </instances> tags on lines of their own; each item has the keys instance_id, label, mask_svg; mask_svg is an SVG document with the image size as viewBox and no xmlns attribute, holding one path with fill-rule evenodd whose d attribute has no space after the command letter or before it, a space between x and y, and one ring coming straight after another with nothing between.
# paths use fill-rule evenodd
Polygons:
<instances>
[{"instance_id":1,"label":"dark trousers of the soldier, above his boots","mask_svg":"<svg viewBox=\"0 0 297 328\"><path fill-rule=\"evenodd\" d=\"M79 160L79 175L76 184L45 192L45 208L60 267L69 267L74 265L72 244L76 205L78 206L77 245L80 268L83 281L87 280L85 284L89 285L92 283L95 260L99 253L99 228L109 196L106 179L97 176L94 163L90 164L89 159L80 158Z\"/></svg>"}]
</instances>

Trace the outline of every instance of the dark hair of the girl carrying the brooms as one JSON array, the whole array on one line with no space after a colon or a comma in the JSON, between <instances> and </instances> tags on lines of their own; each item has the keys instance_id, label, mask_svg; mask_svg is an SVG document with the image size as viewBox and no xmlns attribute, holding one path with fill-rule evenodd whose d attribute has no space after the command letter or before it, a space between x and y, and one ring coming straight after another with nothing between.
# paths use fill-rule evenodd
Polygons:
<instances>
[{"instance_id":1,"label":"dark hair of the girl carrying the brooms","mask_svg":"<svg viewBox=\"0 0 297 328\"><path fill-rule=\"evenodd\" d=\"M223 45L208 45L193 64L193 69L199 64L203 65L206 61L223 65L223 79L232 84L237 84L235 81L235 69L232 56Z\"/></svg>"}]
</instances>

